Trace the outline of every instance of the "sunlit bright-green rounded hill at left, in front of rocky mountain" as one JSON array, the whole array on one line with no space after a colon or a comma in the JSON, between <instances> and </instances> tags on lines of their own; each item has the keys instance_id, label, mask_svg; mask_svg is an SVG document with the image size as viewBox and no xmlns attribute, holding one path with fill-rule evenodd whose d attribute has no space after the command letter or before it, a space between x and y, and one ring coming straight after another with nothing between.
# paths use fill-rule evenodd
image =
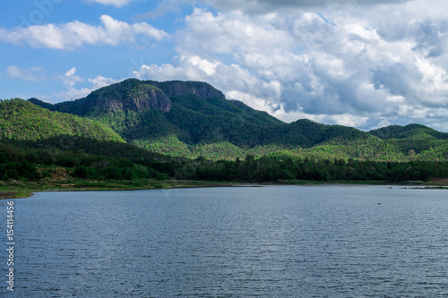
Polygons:
<instances>
[{"instance_id":1,"label":"sunlit bright-green rounded hill at left, in front of rocky mountain","mask_svg":"<svg viewBox=\"0 0 448 298\"><path fill-rule=\"evenodd\" d=\"M124 141L108 125L98 121L52 112L20 98L0 102L1 139L40 140L57 135Z\"/></svg>"}]
</instances>

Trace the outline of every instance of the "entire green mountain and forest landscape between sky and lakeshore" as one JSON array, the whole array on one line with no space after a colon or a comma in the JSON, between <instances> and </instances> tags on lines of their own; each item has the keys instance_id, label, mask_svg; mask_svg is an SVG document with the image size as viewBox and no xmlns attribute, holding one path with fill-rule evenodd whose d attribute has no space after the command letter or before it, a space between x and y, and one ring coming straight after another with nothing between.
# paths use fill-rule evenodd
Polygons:
<instances>
[{"instance_id":1,"label":"entire green mountain and forest landscape between sky and lakeshore","mask_svg":"<svg viewBox=\"0 0 448 298\"><path fill-rule=\"evenodd\" d=\"M202 82L139 81L51 105L0 102L0 180L251 183L448 177L448 133L282 123ZM83 182L83 183L80 183Z\"/></svg>"}]
</instances>

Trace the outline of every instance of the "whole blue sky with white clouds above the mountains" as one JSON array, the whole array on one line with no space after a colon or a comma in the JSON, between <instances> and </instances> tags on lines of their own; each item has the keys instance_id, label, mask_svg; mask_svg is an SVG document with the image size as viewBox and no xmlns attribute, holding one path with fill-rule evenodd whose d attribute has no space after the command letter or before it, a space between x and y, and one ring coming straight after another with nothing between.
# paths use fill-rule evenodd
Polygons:
<instances>
[{"instance_id":1,"label":"whole blue sky with white clouds above the mountains","mask_svg":"<svg viewBox=\"0 0 448 298\"><path fill-rule=\"evenodd\" d=\"M206 81L285 122L448 132L442 0L0 4L0 98L57 103L127 78Z\"/></svg>"}]
</instances>

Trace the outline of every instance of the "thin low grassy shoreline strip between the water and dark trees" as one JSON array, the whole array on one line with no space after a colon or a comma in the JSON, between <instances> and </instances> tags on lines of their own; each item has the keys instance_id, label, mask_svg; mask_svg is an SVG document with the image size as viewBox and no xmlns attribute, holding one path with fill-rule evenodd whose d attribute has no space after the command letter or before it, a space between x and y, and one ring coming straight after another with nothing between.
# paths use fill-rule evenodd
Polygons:
<instances>
[{"instance_id":1,"label":"thin low grassy shoreline strip between the water and dark trees","mask_svg":"<svg viewBox=\"0 0 448 298\"><path fill-rule=\"evenodd\" d=\"M23 182L2 182L0 183L0 200L13 200L30 198L34 192L113 192L113 191L143 191L143 190L168 190L182 188L207 188L207 187L262 187L270 185L297 185L297 186L375 186L390 185L402 186L405 189L418 190L448 190L448 179L438 179L429 182L405 182L390 183L384 181L282 181L277 183L228 183L228 182L208 182L208 181L177 181L167 180L163 182L146 181L146 183L132 182L71 182L71 183L23 183Z\"/></svg>"}]
</instances>

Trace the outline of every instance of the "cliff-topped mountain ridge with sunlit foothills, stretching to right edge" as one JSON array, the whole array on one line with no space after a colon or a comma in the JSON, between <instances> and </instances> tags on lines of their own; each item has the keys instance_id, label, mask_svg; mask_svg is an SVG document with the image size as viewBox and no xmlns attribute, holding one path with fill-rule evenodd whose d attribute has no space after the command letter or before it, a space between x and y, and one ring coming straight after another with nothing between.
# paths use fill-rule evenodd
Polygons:
<instances>
[{"instance_id":1,"label":"cliff-topped mountain ridge with sunlit foothills, stretching to right edge","mask_svg":"<svg viewBox=\"0 0 448 298\"><path fill-rule=\"evenodd\" d=\"M56 105L31 103L110 126L121 138L156 153L211 159L286 154L311 158L437 159L448 133L419 124L371 132L301 119L279 119L227 99L201 81L128 79ZM448 156L446 157L448 158Z\"/></svg>"}]
</instances>

